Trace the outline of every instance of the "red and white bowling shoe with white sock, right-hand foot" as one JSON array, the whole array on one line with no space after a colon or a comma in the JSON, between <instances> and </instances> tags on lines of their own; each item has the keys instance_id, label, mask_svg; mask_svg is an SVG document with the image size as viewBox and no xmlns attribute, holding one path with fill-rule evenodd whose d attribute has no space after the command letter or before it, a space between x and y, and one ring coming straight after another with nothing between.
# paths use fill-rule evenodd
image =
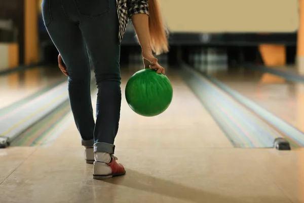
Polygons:
<instances>
[{"instance_id":1,"label":"red and white bowling shoe with white sock, right-hand foot","mask_svg":"<svg viewBox=\"0 0 304 203\"><path fill-rule=\"evenodd\" d=\"M93 179L108 179L126 174L124 166L116 162L118 158L114 155L97 152L94 156Z\"/></svg>"}]
</instances>

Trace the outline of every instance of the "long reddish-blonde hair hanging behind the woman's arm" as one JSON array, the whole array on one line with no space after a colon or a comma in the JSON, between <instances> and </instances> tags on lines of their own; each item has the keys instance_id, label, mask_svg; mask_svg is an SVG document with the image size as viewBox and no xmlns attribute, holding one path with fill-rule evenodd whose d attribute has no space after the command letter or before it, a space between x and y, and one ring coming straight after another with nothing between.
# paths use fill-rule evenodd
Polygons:
<instances>
[{"instance_id":1,"label":"long reddish-blonde hair hanging behind the woman's arm","mask_svg":"<svg viewBox=\"0 0 304 203\"><path fill-rule=\"evenodd\" d=\"M158 0L148 0L149 34L152 50L157 54L169 51L168 30L164 25Z\"/></svg>"}]
</instances>

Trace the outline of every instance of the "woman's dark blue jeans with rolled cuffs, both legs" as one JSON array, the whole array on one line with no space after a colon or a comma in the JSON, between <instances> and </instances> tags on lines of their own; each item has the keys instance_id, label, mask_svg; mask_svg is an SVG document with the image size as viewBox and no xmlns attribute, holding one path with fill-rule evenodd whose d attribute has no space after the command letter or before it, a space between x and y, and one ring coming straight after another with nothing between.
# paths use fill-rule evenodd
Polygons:
<instances>
[{"instance_id":1,"label":"woman's dark blue jeans with rolled cuffs, both legs","mask_svg":"<svg viewBox=\"0 0 304 203\"><path fill-rule=\"evenodd\" d=\"M70 106L82 145L114 153L122 97L116 0L44 0L42 13L67 67ZM98 88L96 123L89 58Z\"/></svg>"}]
</instances>

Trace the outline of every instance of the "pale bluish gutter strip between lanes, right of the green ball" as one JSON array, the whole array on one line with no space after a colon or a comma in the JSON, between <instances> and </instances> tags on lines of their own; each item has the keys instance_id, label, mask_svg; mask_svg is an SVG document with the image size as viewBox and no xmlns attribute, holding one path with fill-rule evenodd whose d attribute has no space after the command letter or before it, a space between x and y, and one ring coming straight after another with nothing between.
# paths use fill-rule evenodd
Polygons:
<instances>
[{"instance_id":1,"label":"pale bluish gutter strip between lanes, right of the green ball","mask_svg":"<svg viewBox=\"0 0 304 203\"><path fill-rule=\"evenodd\" d=\"M182 76L235 147L273 147L275 138L281 137L279 132L196 71L183 67Z\"/></svg>"}]
</instances>

